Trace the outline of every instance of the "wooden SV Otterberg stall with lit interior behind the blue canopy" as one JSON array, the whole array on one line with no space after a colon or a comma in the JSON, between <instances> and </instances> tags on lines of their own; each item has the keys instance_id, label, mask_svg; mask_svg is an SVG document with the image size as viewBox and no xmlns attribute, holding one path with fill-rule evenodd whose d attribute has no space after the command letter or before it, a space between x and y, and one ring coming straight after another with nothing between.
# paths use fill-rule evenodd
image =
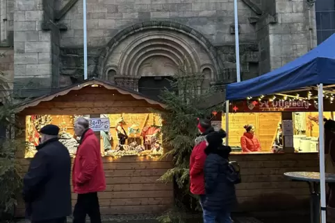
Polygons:
<instances>
[{"instance_id":1,"label":"wooden SV Otterberg stall with lit interior behind the blue canopy","mask_svg":"<svg viewBox=\"0 0 335 223\"><path fill-rule=\"evenodd\" d=\"M242 183L236 185L238 195L237 212L251 213L309 213L309 186L293 182L284 177L284 172L319 171L318 153L316 150L291 150L291 152L274 153L271 148L277 138L278 126L282 120L291 115L295 134L306 137L318 137L318 123L314 116L318 115L316 107L309 104L294 108L286 105L261 108L260 102L266 98L248 98L233 101L229 105L228 141L233 148L230 160L238 161L241 168ZM284 98L279 98L284 100ZM254 102L256 100L257 103ZM254 103L253 103L254 102ZM220 102L222 103L222 101ZM330 103L329 103L330 104ZM313 102L311 102L313 105ZM325 103L326 107L329 106ZM297 106L297 105L296 105ZM331 118L328 107L324 113ZM226 129L224 113L213 111L213 123L220 121L220 127ZM246 124L255 127L255 134L261 143L261 152L240 152L240 137L245 132ZM239 149L238 149L239 148Z\"/></svg>"}]
</instances>

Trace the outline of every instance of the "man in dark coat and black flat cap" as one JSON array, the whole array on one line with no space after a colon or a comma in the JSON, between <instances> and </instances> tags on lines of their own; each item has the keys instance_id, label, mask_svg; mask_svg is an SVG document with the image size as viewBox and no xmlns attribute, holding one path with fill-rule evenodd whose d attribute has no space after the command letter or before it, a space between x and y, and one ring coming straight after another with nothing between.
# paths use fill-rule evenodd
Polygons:
<instances>
[{"instance_id":1,"label":"man in dark coat and black flat cap","mask_svg":"<svg viewBox=\"0 0 335 223\"><path fill-rule=\"evenodd\" d=\"M38 152L24 176L23 198L31 222L63 223L71 215L71 157L58 141L59 127L40 130Z\"/></svg>"}]
</instances>

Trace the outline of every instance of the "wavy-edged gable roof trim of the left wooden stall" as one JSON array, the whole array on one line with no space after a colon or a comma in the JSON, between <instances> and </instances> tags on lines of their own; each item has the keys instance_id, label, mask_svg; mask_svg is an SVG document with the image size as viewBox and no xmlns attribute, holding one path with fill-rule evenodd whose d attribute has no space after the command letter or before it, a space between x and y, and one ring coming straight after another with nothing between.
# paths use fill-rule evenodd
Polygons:
<instances>
[{"instance_id":1,"label":"wavy-edged gable roof trim of the left wooden stall","mask_svg":"<svg viewBox=\"0 0 335 223\"><path fill-rule=\"evenodd\" d=\"M65 87L63 89L59 89L58 91L54 91L54 92L49 93L47 95L40 96L38 98L34 98L33 100L28 100L28 101L21 102L21 103L18 104L19 109L17 109L17 112L23 111L27 107L34 107L34 106L40 104L40 102L49 101L49 100L52 100L52 99L54 99L58 96L64 96L67 93L69 93L70 91L77 91L79 89L82 89L83 87L87 87L87 86L90 86L90 85L91 86L92 85L93 86L94 85L100 85L100 86L105 87L106 89L116 90L119 93L126 94L126 95L131 95L131 96L133 96L133 98L136 98L138 100L146 100L151 105L159 105L162 108L166 107L166 105L162 104L161 102L158 102L156 100L152 100L152 99L148 98L147 96L144 96L141 93L138 93L138 91L134 91L134 90L126 88L126 87L117 86L116 84L113 84L113 83L108 82L106 80L101 80L100 78L89 78L88 80L84 80L83 82L72 84L72 85L70 85L68 87Z\"/></svg>"}]
</instances>

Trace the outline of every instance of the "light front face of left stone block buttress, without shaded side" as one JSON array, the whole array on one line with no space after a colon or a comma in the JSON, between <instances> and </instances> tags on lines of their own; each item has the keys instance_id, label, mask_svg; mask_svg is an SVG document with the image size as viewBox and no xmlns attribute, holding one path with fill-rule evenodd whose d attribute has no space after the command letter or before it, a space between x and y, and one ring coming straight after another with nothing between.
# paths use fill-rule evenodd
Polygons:
<instances>
[{"instance_id":1,"label":"light front face of left stone block buttress, without shaded side","mask_svg":"<svg viewBox=\"0 0 335 223\"><path fill-rule=\"evenodd\" d=\"M42 0L15 1L14 87L29 86L24 96L47 93L51 87L51 33L42 30L43 16Z\"/></svg>"}]
</instances>

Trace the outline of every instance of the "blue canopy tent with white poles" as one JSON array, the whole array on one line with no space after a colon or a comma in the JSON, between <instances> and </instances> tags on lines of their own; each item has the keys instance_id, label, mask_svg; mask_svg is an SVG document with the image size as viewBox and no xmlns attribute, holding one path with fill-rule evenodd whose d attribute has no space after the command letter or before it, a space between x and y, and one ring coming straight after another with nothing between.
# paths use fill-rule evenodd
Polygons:
<instances>
[{"instance_id":1,"label":"blue canopy tent with white poles","mask_svg":"<svg viewBox=\"0 0 335 223\"><path fill-rule=\"evenodd\" d=\"M226 120L229 114L229 100L280 93L302 87L318 85L319 123L323 123L323 85L335 84L335 34L309 53L285 64L279 69L257 78L227 85ZM227 121L226 121L227 124ZM228 124L227 124L228 130ZM324 135L323 125L319 125L319 135ZM228 139L226 139L226 142ZM321 222L326 222L325 197L325 139L319 137L320 150L320 196Z\"/></svg>"}]
</instances>

